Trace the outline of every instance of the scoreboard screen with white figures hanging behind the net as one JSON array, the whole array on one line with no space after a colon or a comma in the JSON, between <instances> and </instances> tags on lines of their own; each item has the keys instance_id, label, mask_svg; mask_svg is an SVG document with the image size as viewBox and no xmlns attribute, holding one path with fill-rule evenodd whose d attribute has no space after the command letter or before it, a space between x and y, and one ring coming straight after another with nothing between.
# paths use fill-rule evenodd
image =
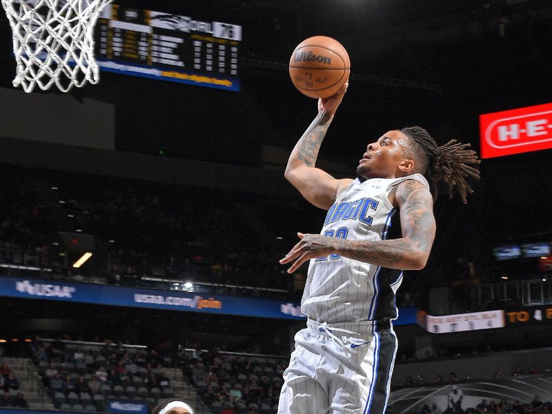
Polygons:
<instances>
[{"instance_id":1,"label":"scoreboard screen with white figures hanging behind the net","mask_svg":"<svg viewBox=\"0 0 552 414\"><path fill-rule=\"evenodd\" d=\"M112 4L95 26L95 57L101 70L238 91L240 41L242 26Z\"/></svg>"}]
</instances>

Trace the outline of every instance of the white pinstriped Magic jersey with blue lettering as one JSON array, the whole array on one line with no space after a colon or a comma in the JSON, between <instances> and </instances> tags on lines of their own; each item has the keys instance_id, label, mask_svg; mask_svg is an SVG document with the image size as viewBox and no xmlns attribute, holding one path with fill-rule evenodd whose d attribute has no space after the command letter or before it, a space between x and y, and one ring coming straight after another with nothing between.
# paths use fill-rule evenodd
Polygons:
<instances>
[{"instance_id":1,"label":"white pinstriped Magic jersey with blue lettering","mask_svg":"<svg viewBox=\"0 0 552 414\"><path fill-rule=\"evenodd\" d=\"M320 234L358 242L402 237L399 211L393 208L388 195L407 179L420 181L429 188L420 174L355 179L328 210ZM396 319L395 293L401 282L402 270L339 255L311 259L301 311L309 319L330 324Z\"/></svg>"}]
</instances>

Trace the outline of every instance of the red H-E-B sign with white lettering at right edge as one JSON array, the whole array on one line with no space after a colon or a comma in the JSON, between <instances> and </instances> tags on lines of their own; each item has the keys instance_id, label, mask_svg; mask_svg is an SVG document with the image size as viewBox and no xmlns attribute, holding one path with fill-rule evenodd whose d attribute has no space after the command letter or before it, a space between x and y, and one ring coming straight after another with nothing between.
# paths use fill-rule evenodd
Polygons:
<instances>
[{"instance_id":1,"label":"red H-E-B sign with white lettering at right edge","mask_svg":"<svg viewBox=\"0 0 552 414\"><path fill-rule=\"evenodd\" d=\"M552 148L552 103L479 116L481 157Z\"/></svg>"}]
</instances>

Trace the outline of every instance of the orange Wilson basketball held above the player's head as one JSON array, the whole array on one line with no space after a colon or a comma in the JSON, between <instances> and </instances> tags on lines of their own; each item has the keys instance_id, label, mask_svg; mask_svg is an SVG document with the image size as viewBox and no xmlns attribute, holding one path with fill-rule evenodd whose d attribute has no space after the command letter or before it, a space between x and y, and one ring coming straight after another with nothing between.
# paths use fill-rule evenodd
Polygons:
<instances>
[{"instance_id":1,"label":"orange Wilson basketball held above the player's head","mask_svg":"<svg viewBox=\"0 0 552 414\"><path fill-rule=\"evenodd\" d=\"M337 40L314 36L302 41L293 50L289 75L295 88L311 98L334 95L349 78L351 61Z\"/></svg>"}]
</instances>

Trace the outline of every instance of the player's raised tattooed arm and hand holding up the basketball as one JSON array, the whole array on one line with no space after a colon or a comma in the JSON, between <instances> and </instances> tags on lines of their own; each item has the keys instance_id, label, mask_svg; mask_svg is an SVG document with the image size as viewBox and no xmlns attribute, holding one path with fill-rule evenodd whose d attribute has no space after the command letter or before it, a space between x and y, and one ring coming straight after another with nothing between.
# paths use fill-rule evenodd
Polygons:
<instances>
[{"instance_id":1,"label":"player's raised tattooed arm and hand holding up the basketball","mask_svg":"<svg viewBox=\"0 0 552 414\"><path fill-rule=\"evenodd\" d=\"M319 99L318 115L297 141L286 166L285 177L307 201L328 210L337 194L351 184L352 179L335 179L315 167L322 140L343 99L348 83L333 97Z\"/></svg>"}]
</instances>

